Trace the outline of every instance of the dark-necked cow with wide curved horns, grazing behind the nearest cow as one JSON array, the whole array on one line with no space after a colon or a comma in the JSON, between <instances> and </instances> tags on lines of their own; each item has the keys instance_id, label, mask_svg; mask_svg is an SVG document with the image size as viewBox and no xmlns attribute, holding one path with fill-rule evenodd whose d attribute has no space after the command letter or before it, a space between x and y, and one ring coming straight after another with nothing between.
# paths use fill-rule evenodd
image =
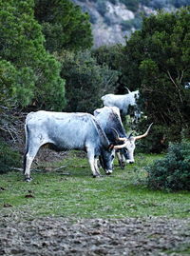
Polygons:
<instances>
[{"instance_id":1,"label":"dark-necked cow with wide curved horns, grazing behind the nearest cow","mask_svg":"<svg viewBox=\"0 0 190 256\"><path fill-rule=\"evenodd\" d=\"M119 108L97 108L94 110L94 116L101 124L101 127L104 129L104 133L111 143L114 144L116 142L115 137L117 138L117 144L119 144L119 142L123 143L122 145L116 145L114 147L115 149L118 149L117 156L120 167L123 168L125 163L134 163L135 142L136 140L142 139L148 135L152 124L147 128L146 132L140 136L127 136L123 128ZM117 133L117 135L115 135L115 133Z\"/></svg>"}]
</instances>

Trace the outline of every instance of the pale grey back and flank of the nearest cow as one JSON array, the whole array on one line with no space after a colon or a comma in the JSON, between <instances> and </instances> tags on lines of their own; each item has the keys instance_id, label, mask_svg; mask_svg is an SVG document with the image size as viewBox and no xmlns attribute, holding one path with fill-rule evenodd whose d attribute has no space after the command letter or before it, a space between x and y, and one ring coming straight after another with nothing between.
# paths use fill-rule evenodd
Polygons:
<instances>
[{"instance_id":1,"label":"pale grey back and flank of the nearest cow","mask_svg":"<svg viewBox=\"0 0 190 256\"><path fill-rule=\"evenodd\" d=\"M26 120L31 138L40 138L42 145L52 143L59 149L85 149L86 143L97 141L93 116L88 113L37 111Z\"/></svg>"}]
</instances>

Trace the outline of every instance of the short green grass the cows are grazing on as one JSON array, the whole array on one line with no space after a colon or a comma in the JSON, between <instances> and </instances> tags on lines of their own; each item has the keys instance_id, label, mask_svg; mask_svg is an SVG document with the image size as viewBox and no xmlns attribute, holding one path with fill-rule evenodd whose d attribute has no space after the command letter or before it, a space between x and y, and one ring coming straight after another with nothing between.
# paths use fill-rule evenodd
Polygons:
<instances>
[{"instance_id":1,"label":"short green grass the cows are grazing on","mask_svg":"<svg viewBox=\"0 0 190 256\"><path fill-rule=\"evenodd\" d=\"M96 179L92 178L86 158L79 158L76 152L70 152L62 163L46 164L51 168L64 166L59 171L32 172L30 183L23 182L20 172L2 174L0 211L32 217L190 217L189 192L154 191L143 184L145 167L159 157L138 154L136 164L123 170L115 162L112 175ZM104 174L103 169L101 172Z\"/></svg>"}]
</instances>

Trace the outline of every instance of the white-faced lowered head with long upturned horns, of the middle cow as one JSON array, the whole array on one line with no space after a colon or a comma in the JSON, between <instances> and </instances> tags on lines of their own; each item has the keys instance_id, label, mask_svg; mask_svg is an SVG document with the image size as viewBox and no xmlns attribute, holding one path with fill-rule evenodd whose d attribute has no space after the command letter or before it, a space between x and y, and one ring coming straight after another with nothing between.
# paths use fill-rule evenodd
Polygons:
<instances>
[{"instance_id":1,"label":"white-faced lowered head with long upturned horns, of the middle cow","mask_svg":"<svg viewBox=\"0 0 190 256\"><path fill-rule=\"evenodd\" d=\"M134 160L134 150L136 148L135 142L137 140L140 140L144 137L146 137L148 135L148 132L151 128L151 126L153 125L153 123L147 128L146 132L143 133L142 135L139 136L132 136L132 134L130 134L128 136L128 138L120 138L118 136L118 140L123 142L123 145L117 145L114 148L115 149L122 149L122 153L124 155L124 158L126 160L126 163L128 164L133 164L135 162Z\"/></svg>"}]
</instances>

